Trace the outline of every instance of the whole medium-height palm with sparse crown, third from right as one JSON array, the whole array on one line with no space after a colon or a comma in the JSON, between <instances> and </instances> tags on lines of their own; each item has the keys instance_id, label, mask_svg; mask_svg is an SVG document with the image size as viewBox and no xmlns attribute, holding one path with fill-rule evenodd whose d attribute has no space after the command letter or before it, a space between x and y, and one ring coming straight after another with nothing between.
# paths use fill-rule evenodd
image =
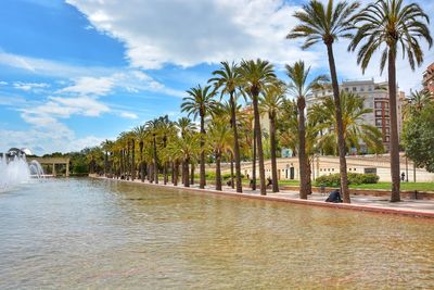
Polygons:
<instances>
[{"instance_id":1,"label":"whole medium-height palm with sparse crown, third from right","mask_svg":"<svg viewBox=\"0 0 434 290\"><path fill-rule=\"evenodd\" d=\"M311 192L309 187L308 176L308 156L306 154L306 96L321 86L322 81L327 81L328 77L324 75L316 77L312 81L307 84L310 67L305 68L305 63L298 61L294 65L286 65L286 75L290 78L289 90L292 96L296 98L297 115L298 115L298 163L299 163L299 198L307 199L307 194Z\"/></svg>"}]
</instances>

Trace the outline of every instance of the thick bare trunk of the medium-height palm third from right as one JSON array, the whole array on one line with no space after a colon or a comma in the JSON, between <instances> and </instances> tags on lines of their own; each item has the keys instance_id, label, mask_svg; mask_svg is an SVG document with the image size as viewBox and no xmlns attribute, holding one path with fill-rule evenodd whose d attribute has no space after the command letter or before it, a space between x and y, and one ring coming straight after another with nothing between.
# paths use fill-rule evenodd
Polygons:
<instances>
[{"instance_id":1,"label":"thick bare trunk of the medium-height palm third from right","mask_svg":"<svg viewBox=\"0 0 434 290\"><path fill-rule=\"evenodd\" d=\"M306 156L306 121L305 121L305 98L298 97L298 165L299 165L299 198L306 200L308 194L308 174Z\"/></svg>"}]
</instances>

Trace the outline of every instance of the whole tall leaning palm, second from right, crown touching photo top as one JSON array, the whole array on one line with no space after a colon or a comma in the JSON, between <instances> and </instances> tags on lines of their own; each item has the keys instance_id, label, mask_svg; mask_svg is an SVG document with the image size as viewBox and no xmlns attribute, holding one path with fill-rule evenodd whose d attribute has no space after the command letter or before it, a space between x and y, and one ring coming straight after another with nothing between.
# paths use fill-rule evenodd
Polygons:
<instances>
[{"instance_id":1,"label":"whole tall leaning palm, second from right, crown touching photo top","mask_svg":"<svg viewBox=\"0 0 434 290\"><path fill-rule=\"evenodd\" d=\"M329 0L324 7L318 0L310 0L308 4L303 5L303 11L297 11L294 16L301 24L295 26L286 38L305 38L303 49L307 49L315 43L322 41L327 47L329 58L330 75L332 79L334 110L337 121L337 141L340 155L341 188L344 202L349 203L348 178L345 160L345 140L342 125L341 98L337 84L336 66L333 55L333 43L339 38L352 38L349 30L354 28L352 14L359 7L358 2L347 3L337 2L333 5L333 0Z\"/></svg>"}]
</instances>

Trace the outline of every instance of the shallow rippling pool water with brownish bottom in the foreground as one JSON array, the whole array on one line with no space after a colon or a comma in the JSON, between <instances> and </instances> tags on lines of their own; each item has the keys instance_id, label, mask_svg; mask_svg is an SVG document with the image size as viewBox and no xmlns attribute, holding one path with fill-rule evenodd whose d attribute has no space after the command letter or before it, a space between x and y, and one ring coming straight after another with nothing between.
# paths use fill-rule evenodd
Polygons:
<instances>
[{"instance_id":1,"label":"shallow rippling pool water with brownish bottom in the foreground","mask_svg":"<svg viewBox=\"0 0 434 290\"><path fill-rule=\"evenodd\" d=\"M92 179L0 193L0 289L432 289L434 222Z\"/></svg>"}]
</instances>

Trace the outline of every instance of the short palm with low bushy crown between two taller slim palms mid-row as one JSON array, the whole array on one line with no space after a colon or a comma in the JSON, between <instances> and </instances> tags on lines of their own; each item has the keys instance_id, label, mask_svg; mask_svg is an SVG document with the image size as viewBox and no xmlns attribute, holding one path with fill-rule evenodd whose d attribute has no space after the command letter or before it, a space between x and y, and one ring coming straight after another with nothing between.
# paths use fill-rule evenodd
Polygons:
<instances>
[{"instance_id":1,"label":"short palm with low bushy crown between two taller slim palms mid-row","mask_svg":"<svg viewBox=\"0 0 434 290\"><path fill-rule=\"evenodd\" d=\"M216 159L216 190L221 190L221 156L232 151L233 130L225 119L214 118L208 131L208 142Z\"/></svg>"}]
</instances>

